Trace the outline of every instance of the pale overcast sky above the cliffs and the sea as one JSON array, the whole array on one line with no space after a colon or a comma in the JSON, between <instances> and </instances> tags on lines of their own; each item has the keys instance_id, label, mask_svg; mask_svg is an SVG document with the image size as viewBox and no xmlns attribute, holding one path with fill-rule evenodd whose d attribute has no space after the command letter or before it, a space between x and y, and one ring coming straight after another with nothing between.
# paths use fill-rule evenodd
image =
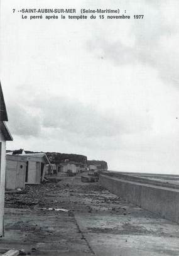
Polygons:
<instances>
[{"instance_id":1,"label":"pale overcast sky above the cliffs and the sea","mask_svg":"<svg viewBox=\"0 0 179 256\"><path fill-rule=\"evenodd\" d=\"M13 9L117 9L139 19L21 19ZM80 153L178 174L178 0L1 0L7 149Z\"/></svg>"}]
</instances>

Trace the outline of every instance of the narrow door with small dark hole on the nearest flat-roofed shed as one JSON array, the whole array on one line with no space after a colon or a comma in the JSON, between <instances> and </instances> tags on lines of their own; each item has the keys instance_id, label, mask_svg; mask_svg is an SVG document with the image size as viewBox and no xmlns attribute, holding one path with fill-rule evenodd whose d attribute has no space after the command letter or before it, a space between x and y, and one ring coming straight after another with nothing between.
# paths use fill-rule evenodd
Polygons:
<instances>
[{"instance_id":1,"label":"narrow door with small dark hole on the nearest flat-roofed shed","mask_svg":"<svg viewBox=\"0 0 179 256\"><path fill-rule=\"evenodd\" d=\"M26 162L18 162L16 172L16 188L24 189L26 174Z\"/></svg>"}]
</instances>

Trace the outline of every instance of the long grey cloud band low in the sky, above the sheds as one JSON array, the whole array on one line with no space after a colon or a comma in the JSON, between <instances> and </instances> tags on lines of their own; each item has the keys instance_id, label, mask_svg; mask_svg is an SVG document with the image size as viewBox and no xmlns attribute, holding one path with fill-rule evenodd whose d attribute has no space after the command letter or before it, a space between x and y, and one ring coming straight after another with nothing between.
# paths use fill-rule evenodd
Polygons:
<instances>
[{"instance_id":1,"label":"long grey cloud band low in the sky, above the sheds","mask_svg":"<svg viewBox=\"0 0 179 256\"><path fill-rule=\"evenodd\" d=\"M87 143L89 147L100 147L100 138L105 138L107 145L112 140L111 147L116 147L112 145L115 138L151 130L153 123L147 111L137 113L133 109L119 109L116 114L110 107L104 111L71 97L38 94L28 98L24 91L19 97L22 103L15 107L11 103L8 109L9 128L14 135L22 138L63 136L72 141L75 136L83 141L82 145ZM92 138L95 143L91 143Z\"/></svg>"}]
</instances>

